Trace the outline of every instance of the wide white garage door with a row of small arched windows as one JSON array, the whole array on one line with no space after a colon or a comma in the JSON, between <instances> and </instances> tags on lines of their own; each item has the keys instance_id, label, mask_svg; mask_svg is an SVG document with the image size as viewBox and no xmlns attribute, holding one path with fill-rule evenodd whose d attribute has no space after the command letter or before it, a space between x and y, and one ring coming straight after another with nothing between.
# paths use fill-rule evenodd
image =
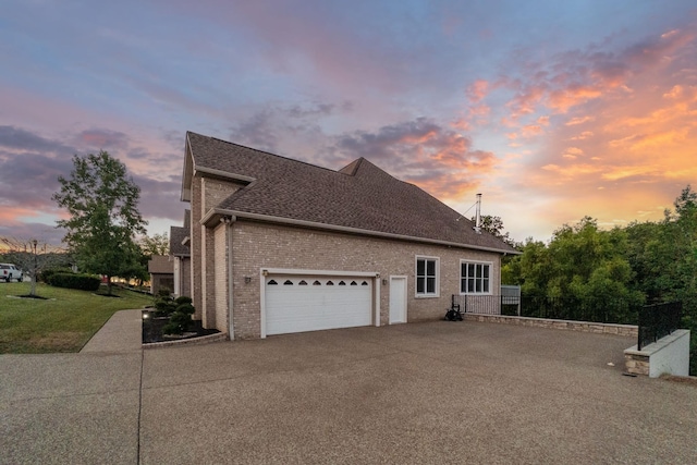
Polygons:
<instances>
[{"instance_id":1,"label":"wide white garage door with a row of small arched windows","mask_svg":"<svg viewBox=\"0 0 697 465\"><path fill-rule=\"evenodd\" d=\"M369 326L372 279L322 276L266 278L266 333Z\"/></svg>"}]
</instances>

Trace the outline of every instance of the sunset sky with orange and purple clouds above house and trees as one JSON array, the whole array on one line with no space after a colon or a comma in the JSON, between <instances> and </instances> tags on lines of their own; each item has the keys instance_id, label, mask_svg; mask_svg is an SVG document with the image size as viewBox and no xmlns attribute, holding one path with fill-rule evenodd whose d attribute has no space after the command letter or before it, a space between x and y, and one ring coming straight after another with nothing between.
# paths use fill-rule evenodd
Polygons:
<instances>
[{"instance_id":1,"label":"sunset sky with orange and purple clouds above house and trees","mask_svg":"<svg viewBox=\"0 0 697 465\"><path fill-rule=\"evenodd\" d=\"M3 0L0 236L58 244L107 150L182 225L186 131L365 157L512 238L655 221L697 184L694 0ZM695 185L697 187L697 185Z\"/></svg>"}]
</instances>

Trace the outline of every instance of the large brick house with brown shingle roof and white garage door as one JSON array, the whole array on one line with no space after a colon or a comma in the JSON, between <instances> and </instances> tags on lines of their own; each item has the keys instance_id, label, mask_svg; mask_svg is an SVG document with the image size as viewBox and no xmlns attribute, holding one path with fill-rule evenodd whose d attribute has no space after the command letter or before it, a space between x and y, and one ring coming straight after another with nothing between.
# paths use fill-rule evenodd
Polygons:
<instances>
[{"instance_id":1,"label":"large brick house with brown shingle roof and white garage door","mask_svg":"<svg viewBox=\"0 0 697 465\"><path fill-rule=\"evenodd\" d=\"M442 318L511 246L365 158L334 171L186 134L196 317L230 339ZM472 285L476 283L476 285Z\"/></svg>"}]
</instances>

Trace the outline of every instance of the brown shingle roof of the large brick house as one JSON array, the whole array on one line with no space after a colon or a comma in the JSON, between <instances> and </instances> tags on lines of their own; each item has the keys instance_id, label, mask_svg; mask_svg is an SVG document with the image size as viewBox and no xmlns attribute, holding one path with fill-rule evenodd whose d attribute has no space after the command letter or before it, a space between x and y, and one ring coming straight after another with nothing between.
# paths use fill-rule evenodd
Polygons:
<instances>
[{"instance_id":1,"label":"brown shingle roof of the large brick house","mask_svg":"<svg viewBox=\"0 0 697 465\"><path fill-rule=\"evenodd\" d=\"M515 253L419 187L365 158L340 171L187 133L194 167L255 179L224 199L224 210L279 217L477 248Z\"/></svg>"}]
</instances>

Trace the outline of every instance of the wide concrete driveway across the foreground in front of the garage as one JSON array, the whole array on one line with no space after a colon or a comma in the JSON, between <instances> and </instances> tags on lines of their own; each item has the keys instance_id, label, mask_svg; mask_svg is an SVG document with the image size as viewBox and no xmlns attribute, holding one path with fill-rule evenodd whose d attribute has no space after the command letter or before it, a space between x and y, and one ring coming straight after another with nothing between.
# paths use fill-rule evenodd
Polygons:
<instances>
[{"instance_id":1,"label":"wide concrete driveway across the foreground in front of the garage","mask_svg":"<svg viewBox=\"0 0 697 465\"><path fill-rule=\"evenodd\" d=\"M4 355L0 462L695 463L697 388L622 376L633 344L433 321Z\"/></svg>"}]
</instances>

